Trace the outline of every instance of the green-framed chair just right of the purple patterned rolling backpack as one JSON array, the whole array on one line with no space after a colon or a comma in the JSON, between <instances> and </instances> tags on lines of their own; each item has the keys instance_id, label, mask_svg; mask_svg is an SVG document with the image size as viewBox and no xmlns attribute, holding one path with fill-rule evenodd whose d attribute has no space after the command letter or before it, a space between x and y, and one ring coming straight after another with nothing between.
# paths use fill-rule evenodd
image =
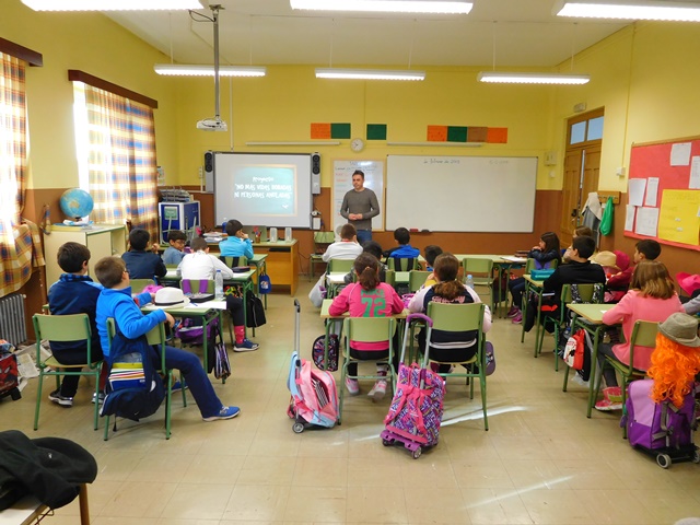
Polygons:
<instances>
[{"instance_id":1,"label":"green-framed chair just right of the purple patterned rolling backpack","mask_svg":"<svg viewBox=\"0 0 700 525\"><path fill-rule=\"evenodd\" d=\"M430 302L428 304L428 316L433 322L433 330L444 331L467 331L477 330L477 353L468 361L443 362L431 359L431 362L440 364L467 365L466 372L441 373L443 377L466 377L469 384L469 399L474 399L474 381L479 380L479 388L481 389L481 410L483 410L483 430L489 430L489 420L487 417L487 396L486 396L486 338L483 337L483 313L486 305L483 303L472 304L447 304ZM430 346L425 341L425 350Z\"/></svg>"}]
</instances>

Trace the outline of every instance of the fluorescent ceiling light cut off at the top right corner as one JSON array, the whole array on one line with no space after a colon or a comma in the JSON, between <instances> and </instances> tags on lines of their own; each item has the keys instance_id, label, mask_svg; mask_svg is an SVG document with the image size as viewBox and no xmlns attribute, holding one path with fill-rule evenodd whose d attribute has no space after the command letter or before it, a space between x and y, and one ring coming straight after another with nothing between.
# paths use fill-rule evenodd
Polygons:
<instances>
[{"instance_id":1,"label":"fluorescent ceiling light cut off at the top right corner","mask_svg":"<svg viewBox=\"0 0 700 525\"><path fill-rule=\"evenodd\" d=\"M700 2L664 0L558 0L553 13L584 19L700 22Z\"/></svg>"}]
</instances>

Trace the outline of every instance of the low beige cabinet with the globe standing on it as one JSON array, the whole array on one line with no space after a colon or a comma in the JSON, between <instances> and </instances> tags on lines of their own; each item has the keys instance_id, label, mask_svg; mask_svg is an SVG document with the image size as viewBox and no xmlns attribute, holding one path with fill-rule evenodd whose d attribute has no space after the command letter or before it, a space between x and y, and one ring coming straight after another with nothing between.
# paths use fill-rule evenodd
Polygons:
<instances>
[{"instance_id":1,"label":"low beige cabinet with the globe standing on it","mask_svg":"<svg viewBox=\"0 0 700 525\"><path fill-rule=\"evenodd\" d=\"M46 259L46 282L50 287L63 272L56 261L58 248L68 242L80 243L90 249L88 262L90 276L94 279L95 264L103 257L121 255L127 250L127 226L121 224L95 224L82 226L51 226L51 233L44 235L44 258Z\"/></svg>"}]
</instances>

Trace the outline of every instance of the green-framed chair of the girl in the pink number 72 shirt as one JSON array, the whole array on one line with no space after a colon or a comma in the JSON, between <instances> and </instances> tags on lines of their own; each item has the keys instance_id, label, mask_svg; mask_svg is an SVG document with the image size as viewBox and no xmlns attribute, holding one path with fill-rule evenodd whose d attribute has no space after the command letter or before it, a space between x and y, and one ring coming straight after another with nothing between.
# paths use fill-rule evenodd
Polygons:
<instances>
[{"instance_id":1,"label":"green-framed chair of the girl in the pink number 72 shirt","mask_svg":"<svg viewBox=\"0 0 700 525\"><path fill-rule=\"evenodd\" d=\"M343 363L342 372L340 373L340 405L338 407L338 424L342 422L342 404L346 394L346 378L352 380L387 380L392 386L392 393L394 392L396 375L394 371L394 331L396 330L396 324L393 317L346 317L343 323L343 329L346 332L346 343L343 345ZM350 357L350 341L361 342L374 342L388 340L389 355L388 358L382 358L376 360L358 360ZM348 375L348 365L351 362L377 362L387 361L389 363L388 374L386 376L374 375ZM359 372L359 370L358 370Z\"/></svg>"}]
</instances>

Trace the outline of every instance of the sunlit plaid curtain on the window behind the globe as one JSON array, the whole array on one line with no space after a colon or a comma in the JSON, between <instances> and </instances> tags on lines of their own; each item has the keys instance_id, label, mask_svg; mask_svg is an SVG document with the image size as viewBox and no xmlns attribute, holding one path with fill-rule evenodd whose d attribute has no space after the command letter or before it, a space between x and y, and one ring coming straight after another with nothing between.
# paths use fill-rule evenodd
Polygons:
<instances>
[{"instance_id":1,"label":"sunlit plaid curtain on the window behind the globe","mask_svg":"<svg viewBox=\"0 0 700 525\"><path fill-rule=\"evenodd\" d=\"M158 238L153 109L83 84L92 220L142 228Z\"/></svg>"}]
</instances>

